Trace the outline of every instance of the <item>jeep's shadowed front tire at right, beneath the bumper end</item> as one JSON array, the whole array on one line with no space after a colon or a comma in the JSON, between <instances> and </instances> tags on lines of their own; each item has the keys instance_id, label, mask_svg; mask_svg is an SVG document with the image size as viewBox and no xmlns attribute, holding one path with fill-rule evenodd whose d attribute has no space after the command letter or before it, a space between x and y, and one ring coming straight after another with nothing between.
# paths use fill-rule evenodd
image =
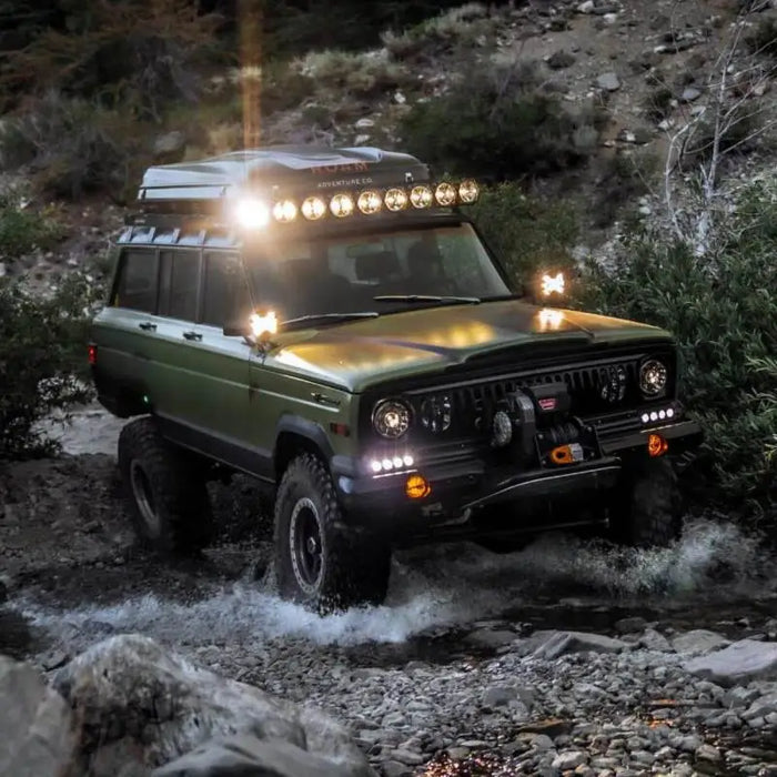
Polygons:
<instances>
[{"instance_id":1,"label":"jeep's shadowed front tire at right, beneath the bumper end","mask_svg":"<svg viewBox=\"0 0 777 777\"><path fill-rule=\"evenodd\" d=\"M609 505L609 537L630 547L667 547L683 531L677 475L668 458L627 470Z\"/></svg>"}]
</instances>

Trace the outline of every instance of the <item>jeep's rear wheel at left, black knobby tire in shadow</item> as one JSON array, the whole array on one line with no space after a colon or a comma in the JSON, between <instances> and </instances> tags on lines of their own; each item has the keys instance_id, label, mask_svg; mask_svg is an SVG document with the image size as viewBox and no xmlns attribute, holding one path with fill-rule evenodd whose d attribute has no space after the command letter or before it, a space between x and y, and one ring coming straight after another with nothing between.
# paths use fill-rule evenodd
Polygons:
<instances>
[{"instance_id":1,"label":"jeep's rear wheel at left, black knobby tire in shadow","mask_svg":"<svg viewBox=\"0 0 777 777\"><path fill-rule=\"evenodd\" d=\"M153 418L122 428L119 470L143 545L161 555L185 555L211 542L213 515L199 462L168 443Z\"/></svg>"}]
</instances>

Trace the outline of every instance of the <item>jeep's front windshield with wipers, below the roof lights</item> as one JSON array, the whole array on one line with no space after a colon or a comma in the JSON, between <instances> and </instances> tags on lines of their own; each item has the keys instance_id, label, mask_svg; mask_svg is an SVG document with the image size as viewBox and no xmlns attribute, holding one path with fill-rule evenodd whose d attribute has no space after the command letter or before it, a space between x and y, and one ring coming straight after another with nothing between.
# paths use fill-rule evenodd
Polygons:
<instances>
[{"instance_id":1,"label":"jeep's front windshield with wipers, below the roof lights","mask_svg":"<svg viewBox=\"0 0 777 777\"><path fill-rule=\"evenodd\" d=\"M248 264L256 303L278 310L282 321L296 320L295 325L512 295L468 223L296 234L265 242Z\"/></svg>"}]
</instances>

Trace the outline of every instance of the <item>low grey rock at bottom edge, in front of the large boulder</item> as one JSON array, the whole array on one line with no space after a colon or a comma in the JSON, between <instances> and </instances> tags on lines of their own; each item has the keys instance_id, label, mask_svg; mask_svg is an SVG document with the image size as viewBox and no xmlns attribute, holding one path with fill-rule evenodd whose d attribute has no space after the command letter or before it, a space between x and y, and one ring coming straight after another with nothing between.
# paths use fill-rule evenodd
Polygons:
<instances>
[{"instance_id":1,"label":"low grey rock at bottom edge, in front of the large boulder","mask_svg":"<svg viewBox=\"0 0 777 777\"><path fill-rule=\"evenodd\" d=\"M287 741L261 740L246 734L205 743L151 773L152 777L345 777L351 774Z\"/></svg>"}]
</instances>

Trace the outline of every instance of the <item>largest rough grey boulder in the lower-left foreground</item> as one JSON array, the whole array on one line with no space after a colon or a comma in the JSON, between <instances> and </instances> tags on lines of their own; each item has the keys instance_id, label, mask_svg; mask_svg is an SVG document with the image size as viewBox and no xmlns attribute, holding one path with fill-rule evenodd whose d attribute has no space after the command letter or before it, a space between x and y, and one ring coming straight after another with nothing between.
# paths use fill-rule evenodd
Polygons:
<instances>
[{"instance_id":1,"label":"largest rough grey boulder in the lower-left foreground","mask_svg":"<svg viewBox=\"0 0 777 777\"><path fill-rule=\"evenodd\" d=\"M323 712L218 677L148 637L94 645L58 673L54 687L73 709L81 765L93 777L159 767L235 734L285 743L300 758L314 754L329 764L326 774L373 774L346 730Z\"/></svg>"}]
</instances>

